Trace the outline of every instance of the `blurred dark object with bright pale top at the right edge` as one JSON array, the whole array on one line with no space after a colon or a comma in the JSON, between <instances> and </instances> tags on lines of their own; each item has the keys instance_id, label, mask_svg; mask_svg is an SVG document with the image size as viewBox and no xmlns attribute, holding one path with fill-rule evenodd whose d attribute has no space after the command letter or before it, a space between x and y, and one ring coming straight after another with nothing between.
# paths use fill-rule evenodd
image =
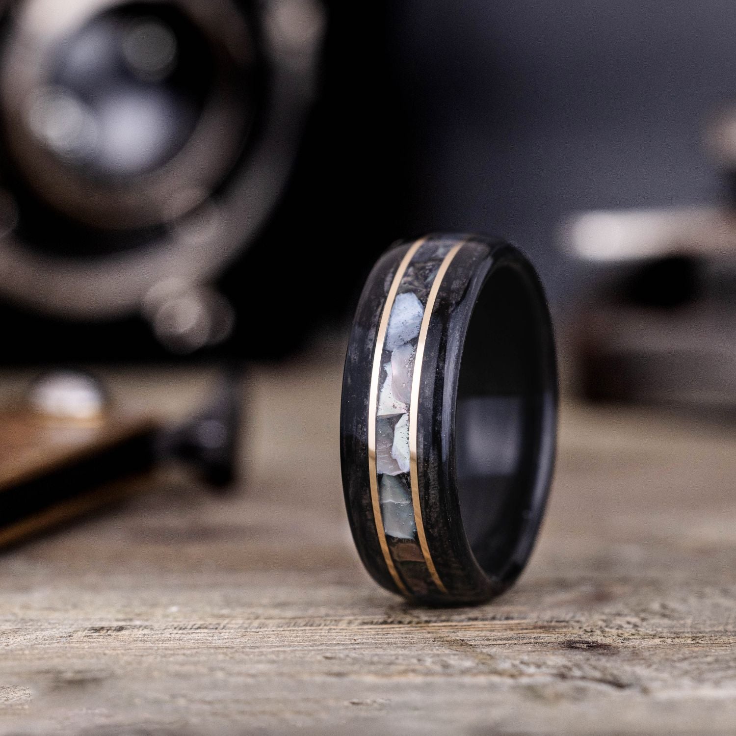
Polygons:
<instances>
[{"instance_id":1,"label":"blurred dark object with bright pale top at the right edge","mask_svg":"<svg viewBox=\"0 0 736 736\"><path fill-rule=\"evenodd\" d=\"M571 321L578 389L731 415L736 408L736 111L708 129L723 204L580 213L565 227L595 291Z\"/></svg>"}]
</instances>

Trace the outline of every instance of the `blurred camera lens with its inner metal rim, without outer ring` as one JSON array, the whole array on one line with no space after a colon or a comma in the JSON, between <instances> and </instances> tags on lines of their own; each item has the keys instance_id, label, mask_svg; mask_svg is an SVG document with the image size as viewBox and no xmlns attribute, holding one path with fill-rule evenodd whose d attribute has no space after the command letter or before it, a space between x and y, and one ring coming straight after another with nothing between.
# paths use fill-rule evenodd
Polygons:
<instances>
[{"instance_id":1,"label":"blurred camera lens with its inner metal rim, without outer ring","mask_svg":"<svg viewBox=\"0 0 736 736\"><path fill-rule=\"evenodd\" d=\"M247 14L230 0L51 1L18 7L4 53L18 180L57 215L103 230L196 208L235 165L258 107Z\"/></svg>"}]
</instances>

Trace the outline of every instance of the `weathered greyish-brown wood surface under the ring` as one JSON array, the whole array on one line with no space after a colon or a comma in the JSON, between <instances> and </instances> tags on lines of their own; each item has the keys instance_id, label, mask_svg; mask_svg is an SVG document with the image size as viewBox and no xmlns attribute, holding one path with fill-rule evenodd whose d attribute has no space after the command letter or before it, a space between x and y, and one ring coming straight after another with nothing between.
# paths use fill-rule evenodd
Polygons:
<instances>
[{"instance_id":1,"label":"weathered greyish-brown wood surface under the ring","mask_svg":"<svg viewBox=\"0 0 736 736\"><path fill-rule=\"evenodd\" d=\"M182 411L205 379L115 386ZM520 583L417 609L355 555L339 381L254 372L242 495L162 486L0 556L0 733L734 732L734 428L565 406Z\"/></svg>"}]
</instances>

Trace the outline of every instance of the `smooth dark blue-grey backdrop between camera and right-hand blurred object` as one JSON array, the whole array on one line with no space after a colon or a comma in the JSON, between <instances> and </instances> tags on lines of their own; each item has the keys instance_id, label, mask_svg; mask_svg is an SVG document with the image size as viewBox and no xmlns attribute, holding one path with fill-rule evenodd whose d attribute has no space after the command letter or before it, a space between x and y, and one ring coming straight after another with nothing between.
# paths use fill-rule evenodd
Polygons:
<instances>
[{"instance_id":1,"label":"smooth dark blue-grey backdrop between camera and right-hand blurred object","mask_svg":"<svg viewBox=\"0 0 736 736\"><path fill-rule=\"evenodd\" d=\"M736 100L733 0L403 0L391 46L414 130L411 227L504 233L553 299L570 210L721 194L704 117Z\"/></svg>"}]
</instances>

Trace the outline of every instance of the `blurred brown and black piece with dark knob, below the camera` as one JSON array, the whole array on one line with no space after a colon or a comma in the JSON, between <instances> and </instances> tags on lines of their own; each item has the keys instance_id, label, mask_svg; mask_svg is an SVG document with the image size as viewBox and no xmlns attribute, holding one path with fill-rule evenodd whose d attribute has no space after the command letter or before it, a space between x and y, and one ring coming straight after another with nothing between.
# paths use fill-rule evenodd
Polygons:
<instances>
[{"instance_id":1,"label":"blurred brown and black piece with dark knob, below the camera","mask_svg":"<svg viewBox=\"0 0 736 736\"><path fill-rule=\"evenodd\" d=\"M0 411L0 548L173 481L164 471L174 462L227 489L238 465L234 389L223 378L204 410L171 426L116 406L88 373L41 375Z\"/></svg>"}]
</instances>

